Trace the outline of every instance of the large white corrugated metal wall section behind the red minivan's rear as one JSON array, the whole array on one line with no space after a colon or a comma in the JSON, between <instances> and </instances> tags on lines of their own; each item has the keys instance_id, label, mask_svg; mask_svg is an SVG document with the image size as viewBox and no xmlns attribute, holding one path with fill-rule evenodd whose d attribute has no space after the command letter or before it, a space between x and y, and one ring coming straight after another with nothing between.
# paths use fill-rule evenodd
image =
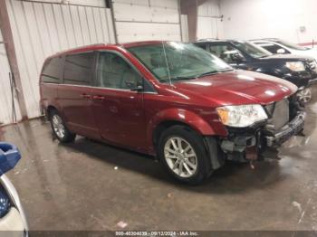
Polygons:
<instances>
[{"instance_id":1,"label":"large white corrugated metal wall section behind the red minivan's rear","mask_svg":"<svg viewBox=\"0 0 317 237\"><path fill-rule=\"evenodd\" d=\"M115 42L110 9L100 6L101 0L62 1L71 5L46 1L50 3L6 0L29 118L40 115L38 80L47 56L85 44ZM85 6L75 5L81 3Z\"/></svg>"}]
</instances>

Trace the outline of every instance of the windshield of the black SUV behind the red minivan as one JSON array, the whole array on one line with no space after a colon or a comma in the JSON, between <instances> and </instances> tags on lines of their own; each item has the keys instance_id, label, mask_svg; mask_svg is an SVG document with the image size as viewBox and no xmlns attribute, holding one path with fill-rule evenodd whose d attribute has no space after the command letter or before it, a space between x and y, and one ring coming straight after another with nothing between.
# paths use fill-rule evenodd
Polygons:
<instances>
[{"instance_id":1,"label":"windshield of the black SUV behind the red minivan","mask_svg":"<svg viewBox=\"0 0 317 237\"><path fill-rule=\"evenodd\" d=\"M235 41L233 42L236 48L240 51L249 54L255 59L264 58L273 55L271 52L264 50L263 48L255 45L255 43L250 43L246 41Z\"/></svg>"}]
</instances>

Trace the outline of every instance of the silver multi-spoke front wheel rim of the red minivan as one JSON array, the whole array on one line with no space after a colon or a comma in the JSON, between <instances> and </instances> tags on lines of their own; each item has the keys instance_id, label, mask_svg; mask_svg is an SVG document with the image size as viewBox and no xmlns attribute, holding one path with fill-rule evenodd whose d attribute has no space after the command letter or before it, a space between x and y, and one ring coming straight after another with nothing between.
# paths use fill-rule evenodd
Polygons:
<instances>
[{"instance_id":1,"label":"silver multi-spoke front wheel rim of the red minivan","mask_svg":"<svg viewBox=\"0 0 317 237\"><path fill-rule=\"evenodd\" d=\"M193 147L181 137L170 137L164 147L168 167L178 176L190 177L197 171L197 155Z\"/></svg>"}]
</instances>

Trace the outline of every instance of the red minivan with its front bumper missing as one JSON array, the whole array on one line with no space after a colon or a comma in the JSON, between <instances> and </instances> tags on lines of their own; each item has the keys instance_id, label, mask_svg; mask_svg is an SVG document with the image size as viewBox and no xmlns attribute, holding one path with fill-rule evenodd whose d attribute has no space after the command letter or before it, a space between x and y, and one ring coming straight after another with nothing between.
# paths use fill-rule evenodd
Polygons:
<instances>
[{"instance_id":1,"label":"red minivan with its front bumper missing","mask_svg":"<svg viewBox=\"0 0 317 237\"><path fill-rule=\"evenodd\" d=\"M41 108L54 135L76 134L158 156L197 184L226 160L261 160L303 130L297 87L188 43L98 44L49 57Z\"/></svg>"}]
</instances>

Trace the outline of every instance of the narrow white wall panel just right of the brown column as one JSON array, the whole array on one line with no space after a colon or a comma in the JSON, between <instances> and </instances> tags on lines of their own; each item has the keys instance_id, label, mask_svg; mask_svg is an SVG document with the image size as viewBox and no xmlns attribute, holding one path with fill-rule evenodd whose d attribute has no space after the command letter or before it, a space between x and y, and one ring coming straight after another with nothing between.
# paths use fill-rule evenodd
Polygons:
<instances>
[{"instance_id":1,"label":"narrow white wall panel just right of the brown column","mask_svg":"<svg viewBox=\"0 0 317 237\"><path fill-rule=\"evenodd\" d=\"M209 0L198 7L197 39L221 38L223 23L220 19L219 0Z\"/></svg>"}]
</instances>

